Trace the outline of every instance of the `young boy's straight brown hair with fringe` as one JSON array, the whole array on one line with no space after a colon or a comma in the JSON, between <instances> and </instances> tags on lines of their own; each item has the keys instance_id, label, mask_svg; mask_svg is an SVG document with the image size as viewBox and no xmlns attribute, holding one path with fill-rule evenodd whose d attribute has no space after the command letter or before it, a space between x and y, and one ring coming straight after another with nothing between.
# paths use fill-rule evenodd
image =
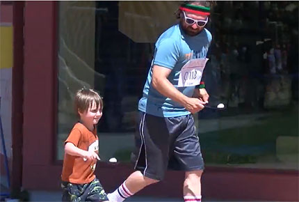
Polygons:
<instances>
[{"instance_id":1,"label":"young boy's straight brown hair with fringe","mask_svg":"<svg viewBox=\"0 0 299 202\"><path fill-rule=\"evenodd\" d=\"M86 112L91 107L92 102L97 104L97 108L100 111L103 110L103 100L99 93L95 90L88 89L88 88L81 88L79 91L76 92L74 97L74 111L79 116L78 111Z\"/></svg>"}]
</instances>

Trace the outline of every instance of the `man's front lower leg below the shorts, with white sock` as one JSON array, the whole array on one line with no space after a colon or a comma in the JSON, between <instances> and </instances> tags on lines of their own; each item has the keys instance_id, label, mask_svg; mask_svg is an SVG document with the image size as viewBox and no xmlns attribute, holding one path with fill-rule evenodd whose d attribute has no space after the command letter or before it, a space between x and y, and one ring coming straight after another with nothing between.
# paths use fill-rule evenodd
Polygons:
<instances>
[{"instance_id":1,"label":"man's front lower leg below the shorts, with white sock","mask_svg":"<svg viewBox=\"0 0 299 202\"><path fill-rule=\"evenodd\" d=\"M201 171L186 171L184 180L184 201L198 202L202 199L200 178Z\"/></svg>"}]
</instances>

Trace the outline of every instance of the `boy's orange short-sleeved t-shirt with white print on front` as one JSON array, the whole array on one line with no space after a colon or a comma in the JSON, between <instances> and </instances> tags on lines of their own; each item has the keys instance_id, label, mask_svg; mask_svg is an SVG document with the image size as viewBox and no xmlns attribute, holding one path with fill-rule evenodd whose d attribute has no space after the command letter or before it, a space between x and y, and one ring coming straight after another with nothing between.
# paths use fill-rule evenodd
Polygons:
<instances>
[{"instance_id":1,"label":"boy's orange short-sleeved t-shirt with white print on front","mask_svg":"<svg viewBox=\"0 0 299 202\"><path fill-rule=\"evenodd\" d=\"M65 143L74 143L74 146L82 150L94 150L99 153L99 139L97 130L92 132L82 123L76 123ZM86 184L95 179L95 165L97 160L83 160L83 157L68 155L65 153L63 160L63 173L61 179L75 184Z\"/></svg>"}]
</instances>

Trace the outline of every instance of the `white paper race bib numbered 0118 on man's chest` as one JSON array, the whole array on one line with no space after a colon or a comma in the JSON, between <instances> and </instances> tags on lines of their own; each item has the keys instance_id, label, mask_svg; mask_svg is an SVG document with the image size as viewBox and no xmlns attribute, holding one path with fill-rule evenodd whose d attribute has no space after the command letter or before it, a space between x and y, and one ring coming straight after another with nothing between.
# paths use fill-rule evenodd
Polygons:
<instances>
[{"instance_id":1,"label":"white paper race bib numbered 0118 on man's chest","mask_svg":"<svg viewBox=\"0 0 299 202\"><path fill-rule=\"evenodd\" d=\"M179 74L178 87L196 86L200 84L202 72L209 59L192 59L188 61Z\"/></svg>"}]
</instances>

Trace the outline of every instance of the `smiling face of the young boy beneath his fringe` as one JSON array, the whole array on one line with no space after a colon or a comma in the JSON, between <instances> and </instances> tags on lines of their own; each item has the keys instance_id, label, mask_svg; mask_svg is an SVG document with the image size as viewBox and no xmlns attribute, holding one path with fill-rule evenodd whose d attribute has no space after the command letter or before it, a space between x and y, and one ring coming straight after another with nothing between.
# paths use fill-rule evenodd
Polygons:
<instances>
[{"instance_id":1,"label":"smiling face of the young boy beneath his fringe","mask_svg":"<svg viewBox=\"0 0 299 202\"><path fill-rule=\"evenodd\" d=\"M87 111L81 112L78 110L81 121L83 121L83 123L86 123L88 125L97 124L99 122L99 118L102 117L102 111L100 111L100 108L101 108L100 105L97 108L97 104L94 101L92 102L92 104L90 105Z\"/></svg>"}]
</instances>

